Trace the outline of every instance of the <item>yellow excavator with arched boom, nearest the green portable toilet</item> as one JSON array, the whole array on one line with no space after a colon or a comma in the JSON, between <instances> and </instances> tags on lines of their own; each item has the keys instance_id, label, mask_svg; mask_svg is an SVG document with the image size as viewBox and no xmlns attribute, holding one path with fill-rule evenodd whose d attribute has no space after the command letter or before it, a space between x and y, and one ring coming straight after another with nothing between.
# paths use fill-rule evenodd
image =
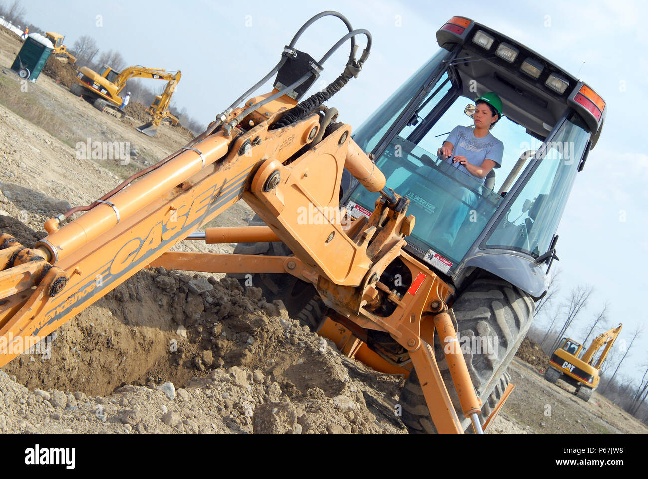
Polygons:
<instances>
[{"instance_id":1,"label":"yellow excavator with arched boom, nearest the green portable toilet","mask_svg":"<svg viewBox=\"0 0 648 479\"><path fill-rule=\"evenodd\" d=\"M180 77L181 72L179 70L167 71L165 69L146 68L136 65L124 68L121 72L117 73L110 66L104 64L98 72L87 67L81 68L76 75L76 82L70 87L70 92L76 96L84 97L101 112L121 117L123 99L119 94L124 90L126 81L132 78L167 80L169 83L167 84L165 93L161 95L160 106L154 108L152 105L150 107L150 110L153 111L152 125L157 126L161 119L165 117L168 103ZM156 101L154 100L153 103L155 104ZM157 123L155 123L156 121ZM146 125L148 123L139 128L146 127ZM151 131L152 134L149 136L155 134L154 129Z\"/></svg>"}]
</instances>

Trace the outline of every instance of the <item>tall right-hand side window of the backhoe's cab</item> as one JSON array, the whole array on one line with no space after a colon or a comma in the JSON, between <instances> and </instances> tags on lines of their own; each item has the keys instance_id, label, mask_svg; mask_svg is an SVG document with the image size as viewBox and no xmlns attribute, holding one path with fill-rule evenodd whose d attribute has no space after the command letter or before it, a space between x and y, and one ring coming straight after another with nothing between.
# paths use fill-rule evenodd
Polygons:
<instances>
[{"instance_id":1,"label":"tall right-hand side window of the backhoe's cab","mask_svg":"<svg viewBox=\"0 0 648 479\"><path fill-rule=\"evenodd\" d=\"M486 242L487 248L515 249L536 258L548 251L589 140L583 120L573 113L562 123L531 177Z\"/></svg>"}]
</instances>

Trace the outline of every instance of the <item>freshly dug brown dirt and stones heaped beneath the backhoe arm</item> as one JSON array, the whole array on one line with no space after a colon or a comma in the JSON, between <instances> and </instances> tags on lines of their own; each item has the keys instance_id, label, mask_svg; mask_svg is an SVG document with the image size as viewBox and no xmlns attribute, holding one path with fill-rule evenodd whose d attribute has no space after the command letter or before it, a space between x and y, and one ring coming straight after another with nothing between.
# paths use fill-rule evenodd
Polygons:
<instances>
[{"instance_id":1,"label":"freshly dug brown dirt and stones heaped beneath the backhoe arm","mask_svg":"<svg viewBox=\"0 0 648 479\"><path fill-rule=\"evenodd\" d=\"M26 244L39 236L19 222L3 227ZM141 271L46 343L0 372L0 430L404 432L394 414L400 376L345 358L281 301L232 278ZM159 389L167 382L172 395ZM176 387L186 390L170 399Z\"/></svg>"}]
</instances>

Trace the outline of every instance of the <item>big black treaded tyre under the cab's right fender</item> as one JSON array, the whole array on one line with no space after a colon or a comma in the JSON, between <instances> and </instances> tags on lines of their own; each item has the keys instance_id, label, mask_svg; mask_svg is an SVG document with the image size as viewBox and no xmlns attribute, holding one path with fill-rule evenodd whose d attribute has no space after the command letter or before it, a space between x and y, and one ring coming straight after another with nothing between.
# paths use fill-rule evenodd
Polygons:
<instances>
[{"instance_id":1,"label":"big black treaded tyre under the cab's right fender","mask_svg":"<svg viewBox=\"0 0 648 479\"><path fill-rule=\"evenodd\" d=\"M457 319L459 344L462 350L463 347L469 349L463 357L477 397L481 400L483 423L508 385L510 376L506 368L531 326L535 303L527 293L510 283L495 276L481 276L461 293L452 310ZM435 358L461 425L466 430L470 419L463 417L443 350L437 341L438 336L434 341ZM399 403L402 405L402 421L410 433L436 432L415 372L406 380Z\"/></svg>"}]
</instances>

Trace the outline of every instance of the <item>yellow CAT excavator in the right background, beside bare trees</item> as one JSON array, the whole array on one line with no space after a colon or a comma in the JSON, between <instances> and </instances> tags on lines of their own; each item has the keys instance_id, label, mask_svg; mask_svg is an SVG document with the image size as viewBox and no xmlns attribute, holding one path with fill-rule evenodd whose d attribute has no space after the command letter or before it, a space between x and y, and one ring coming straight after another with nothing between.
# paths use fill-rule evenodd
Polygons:
<instances>
[{"instance_id":1,"label":"yellow CAT excavator in the right background, beside bare trees","mask_svg":"<svg viewBox=\"0 0 648 479\"><path fill-rule=\"evenodd\" d=\"M575 395L585 402L592 397L592 391L599 384L599 371L607 357L614 340L621 332L621 326L612 328L599 334L588 349L583 353L583 345L572 338L562 338L561 345L553 352L549 360L549 367L544 373L544 378L551 383L562 379L564 382L576 387ZM605 348L594 361L596 353Z\"/></svg>"}]
</instances>

